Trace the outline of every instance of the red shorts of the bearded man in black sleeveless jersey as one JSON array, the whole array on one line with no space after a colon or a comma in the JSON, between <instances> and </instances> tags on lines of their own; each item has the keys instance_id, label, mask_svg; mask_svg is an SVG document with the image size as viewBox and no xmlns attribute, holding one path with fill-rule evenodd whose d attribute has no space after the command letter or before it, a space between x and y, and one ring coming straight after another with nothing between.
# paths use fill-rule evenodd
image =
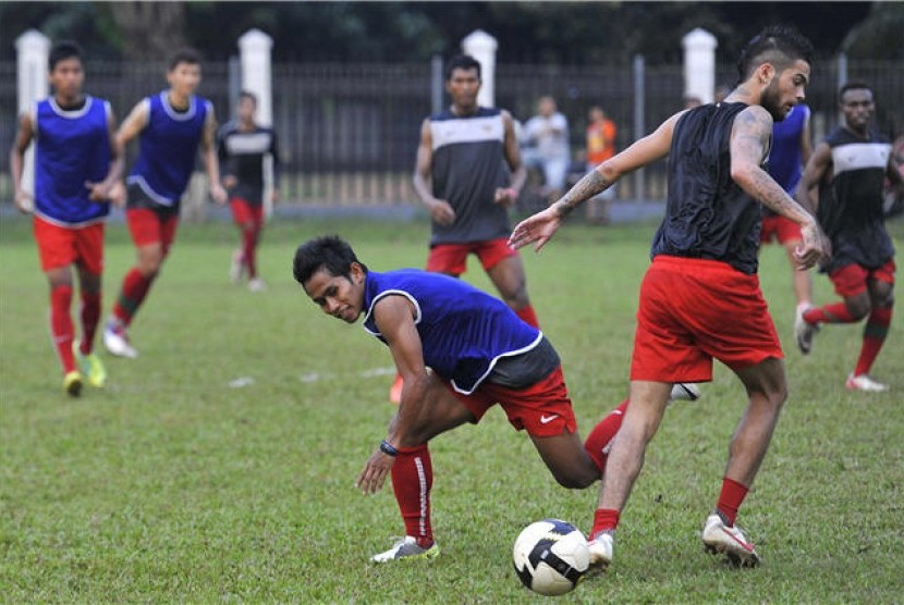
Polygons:
<instances>
[{"instance_id":1,"label":"red shorts of the bearded man in black sleeveless jersey","mask_svg":"<svg viewBox=\"0 0 904 605\"><path fill-rule=\"evenodd\" d=\"M782 346L759 279L714 260L658 256L640 285L631 380L712 380L712 358L733 370Z\"/></svg>"}]
</instances>

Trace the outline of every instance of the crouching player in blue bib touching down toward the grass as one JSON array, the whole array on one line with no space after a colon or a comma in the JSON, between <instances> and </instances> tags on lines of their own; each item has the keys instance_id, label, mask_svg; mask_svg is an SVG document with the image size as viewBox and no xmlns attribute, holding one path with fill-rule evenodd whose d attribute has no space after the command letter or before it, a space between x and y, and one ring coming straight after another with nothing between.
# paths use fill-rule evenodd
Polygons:
<instances>
[{"instance_id":1,"label":"crouching player in blue bib touching down toward the grass","mask_svg":"<svg viewBox=\"0 0 904 605\"><path fill-rule=\"evenodd\" d=\"M439 273L403 269L378 273L335 236L295 252L294 276L323 312L387 344L403 378L389 433L357 479L364 493L388 474L405 538L372 557L378 563L439 554L430 523L432 466L428 442L497 403L525 430L565 487L593 484L606 468L606 448L627 402L603 418L582 444L559 355L536 328L503 301Z\"/></svg>"}]
</instances>

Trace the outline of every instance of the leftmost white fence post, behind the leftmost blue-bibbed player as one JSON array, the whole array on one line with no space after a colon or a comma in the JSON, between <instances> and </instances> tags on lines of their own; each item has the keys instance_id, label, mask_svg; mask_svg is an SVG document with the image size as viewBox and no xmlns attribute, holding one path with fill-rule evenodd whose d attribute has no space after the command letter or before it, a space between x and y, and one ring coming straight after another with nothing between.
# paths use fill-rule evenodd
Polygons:
<instances>
[{"instance_id":1,"label":"leftmost white fence post, behind the leftmost blue-bibbed player","mask_svg":"<svg viewBox=\"0 0 904 605\"><path fill-rule=\"evenodd\" d=\"M33 102L50 94L47 78L47 59L50 55L50 38L37 29L28 29L15 40L16 81L19 86L19 113L28 111ZM28 146L22 166L22 188L35 194L35 146Z\"/></svg>"}]
</instances>

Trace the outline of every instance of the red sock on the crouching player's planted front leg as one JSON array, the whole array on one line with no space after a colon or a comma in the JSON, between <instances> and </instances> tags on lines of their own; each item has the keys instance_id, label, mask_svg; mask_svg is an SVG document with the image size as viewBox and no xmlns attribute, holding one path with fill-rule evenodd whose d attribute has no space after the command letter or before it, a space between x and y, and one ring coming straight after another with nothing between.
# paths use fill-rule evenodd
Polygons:
<instances>
[{"instance_id":1,"label":"red sock on the crouching player's planted front leg","mask_svg":"<svg viewBox=\"0 0 904 605\"><path fill-rule=\"evenodd\" d=\"M405 535L414 536L422 548L433 544L433 528L430 527L432 485L433 468L427 444L400 447L392 465L392 491L405 521Z\"/></svg>"}]
</instances>

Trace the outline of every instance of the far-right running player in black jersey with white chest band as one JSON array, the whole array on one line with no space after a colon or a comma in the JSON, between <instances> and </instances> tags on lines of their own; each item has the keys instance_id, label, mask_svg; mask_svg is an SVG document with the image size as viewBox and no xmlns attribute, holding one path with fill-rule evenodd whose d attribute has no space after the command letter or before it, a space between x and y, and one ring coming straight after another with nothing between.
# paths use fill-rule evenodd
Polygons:
<instances>
[{"instance_id":1,"label":"far-right running player in black jersey with white chest band","mask_svg":"<svg viewBox=\"0 0 904 605\"><path fill-rule=\"evenodd\" d=\"M872 89L850 82L839 91L844 115L816 147L798 196L814 205L822 229L832 242L832 258L822 267L844 300L798 310L797 346L810 351L813 336L822 323L855 323L866 318L860 355L847 376L847 388L888 391L869 376L891 325L894 291L894 246L885 230L885 177L900 190L904 180L894 165L891 144L870 128L876 104ZM816 197L815 194L818 194Z\"/></svg>"}]
</instances>

